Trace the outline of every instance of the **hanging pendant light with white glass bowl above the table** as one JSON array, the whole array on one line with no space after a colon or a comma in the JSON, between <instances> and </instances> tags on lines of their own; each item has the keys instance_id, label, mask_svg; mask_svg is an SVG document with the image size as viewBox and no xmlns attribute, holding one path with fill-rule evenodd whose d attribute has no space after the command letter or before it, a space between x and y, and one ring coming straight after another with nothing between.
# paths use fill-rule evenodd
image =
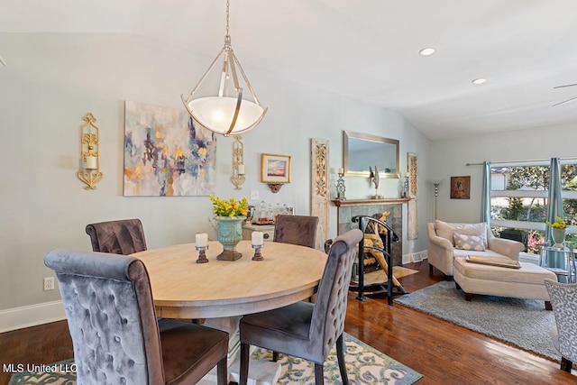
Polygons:
<instances>
[{"instance_id":1,"label":"hanging pendant light with white glass bowl above the table","mask_svg":"<svg viewBox=\"0 0 577 385\"><path fill-rule=\"evenodd\" d=\"M193 119L215 133L222 133L224 136L246 133L261 123L262 118L267 113L266 107L259 103L249 79L244 75L241 63L234 56L231 46L231 36L228 34L229 0L226 0L226 35L224 35L224 47L218 53L215 60L206 70L205 75L200 78L198 84L190 92L187 98L181 95L182 102ZM209 75L215 64L222 60L220 82L218 94L216 96L196 97L195 93L205 78ZM243 99L245 92L239 83L237 69L243 77L248 88L252 101Z\"/></svg>"}]
</instances>

